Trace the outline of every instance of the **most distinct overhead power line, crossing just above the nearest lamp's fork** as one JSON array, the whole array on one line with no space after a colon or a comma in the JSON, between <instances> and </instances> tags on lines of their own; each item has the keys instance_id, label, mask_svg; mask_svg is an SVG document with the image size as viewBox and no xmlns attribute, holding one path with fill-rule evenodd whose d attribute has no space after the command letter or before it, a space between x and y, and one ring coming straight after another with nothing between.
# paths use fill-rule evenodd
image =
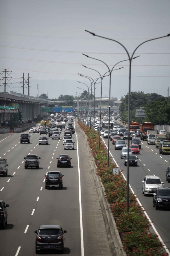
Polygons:
<instances>
[{"instance_id":1,"label":"most distinct overhead power line, crossing just above the nearest lamp's fork","mask_svg":"<svg viewBox=\"0 0 170 256\"><path fill-rule=\"evenodd\" d=\"M36 49L36 48L28 48L28 47L20 47L20 46L10 46L10 45L0 45L1 47L8 47L8 48L16 48L16 49L24 49L24 50L33 50L33 51L43 51L43 52L67 52L67 53L86 53L86 54L118 54L118 55L124 55L127 53L117 53L117 52L75 52L75 51L60 51L60 50L46 50L46 49ZM132 53L130 53L132 54ZM170 52L163 52L163 53L135 53L135 54L170 54Z\"/></svg>"}]
</instances>

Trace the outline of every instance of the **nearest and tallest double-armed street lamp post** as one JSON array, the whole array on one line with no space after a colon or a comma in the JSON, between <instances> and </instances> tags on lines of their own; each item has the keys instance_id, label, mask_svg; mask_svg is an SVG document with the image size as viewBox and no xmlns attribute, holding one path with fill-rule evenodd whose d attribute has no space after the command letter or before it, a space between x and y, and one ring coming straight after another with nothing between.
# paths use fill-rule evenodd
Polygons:
<instances>
[{"instance_id":1,"label":"nearest and tallest double-armed street lamp post","mask_svg":"<svg viewBox=\"0 0 170 256\"><path fill-rule=\"evenodd\" d=\"M111 41L114 41L114 42L118 43L119 45L121 45L124 48L124 50L126 51L126 53L128 55L128 58L129 58L128 141L127 141L127 209L126 209L127 212L129 212L129 146L130 146L130 126L129 126L129 124L130 124L130 92L131 92L131 66L132 66L132 59L133 59L134 53L139 48L139 46L141 46L144 43L149 42L149 41L161 39L161 38L164 38L164 37L169 37L170 34L167 34L166 36L161 36L161 37L157 37L157 38L153 38L153 39L144 41L143 43L141 43L139 46L137 46L135 48L135 50L133 51L132 55L130 56L130 54L127 51L126 47L124 45L122 45L119 41L114 40L114 39L110 39L110 38L107 38L107 37L96 35L96 34L90 32L88 30L85 30L85 31L87 31L88 33L92 34L93 36L101 37L101 38L104 38L104 39L107 39L107 40L111 40Z\"/></svg>"}]
</instances>

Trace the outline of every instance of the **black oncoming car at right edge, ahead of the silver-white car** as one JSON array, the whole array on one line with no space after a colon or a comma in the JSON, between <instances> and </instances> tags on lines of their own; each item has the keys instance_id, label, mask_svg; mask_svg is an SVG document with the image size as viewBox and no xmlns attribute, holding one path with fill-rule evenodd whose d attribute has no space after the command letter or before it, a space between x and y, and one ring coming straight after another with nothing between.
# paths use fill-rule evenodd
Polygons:
<instances>
[{"instance_id":1,"label":"black oncoming car at right edge, ahead of the silver-white car","mask_svg":"<svg viewBox=\"0 0 170 256\"><path fill-rule=\"evenodd\" d=\"M156 210L162 207L170 207L170 188L158 187L153 195L153 207L155 207Z\"/></svg>"}]
</instances>

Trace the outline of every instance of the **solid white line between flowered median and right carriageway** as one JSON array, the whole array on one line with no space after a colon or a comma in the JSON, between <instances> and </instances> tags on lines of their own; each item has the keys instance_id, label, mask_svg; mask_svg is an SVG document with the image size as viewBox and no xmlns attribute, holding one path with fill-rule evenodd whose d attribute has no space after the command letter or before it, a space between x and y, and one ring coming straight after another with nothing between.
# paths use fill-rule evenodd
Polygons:
<instances>
[{"instance_id":1,"label":"solid white line between flowered median and right carriageway","mask_svg":"<svg viewBox=\"0 0 170 256\"><path fill-rule=\"evenodd\" d=\"M102 137L101 137L101 138L102 138ZM103 142L104 142L104 144L105 144L106 148L108 149L108 147L107 147L107 145L106 145L106 143L105 143L105 141L104 141L104 139L103 139L103 138L102 138L102 140L103 140ZM109 153L110 153L110 150L109 150ZM110 153L110 155L113 157L113 155L112 155L111 153ZM116 166L119 168L119 166L118 166L118 164L117 164L117 162L116 162L115 158L113 158L113 161L115 162ZM119 168L119 169L120 169L120 168ZM120 170L121 170L121 169L120 169ZM153 175L155 176L155 174L153 174ZM126 181L127 181L127 179L125 178L125 175L124 175L123 173L122 173L122 176L123 176L124 180L126 180ZM135 196L136 196L136 194L134 193L134 191L133 191L132 187L131 187L130 185L129 185L129 187L130 187L130 190L132 191L133 195L135 195ZM138 199L138 198L136 198L136 200L138 201L138 203L139 203L139 205L141 206L141 208L144 210L144 207L142 206L142 204L141 204L141 202L139 201L139 199ZM147 219L149 220L150 225L151 225L151 226L152 226L152 228L154 229L154 231L155 231L156 235L159 237L159 240L161 241L161 243L162 243L162 245L163 245L163 247L164 247L165 251L168 253L168 255L170 255L169 250L168 250L168 249L167 249L167 247L165 246L165 244L164 244L163 240L161 239L161 237L160 237L160 235L159 235L158 231L156 230L156 228L155 228L154 224L151 222L151 219L150 219L150 217L148 216L148 214L146 213L146 211L145 211L145 210L144 210L144 214L146 215Z\"/></svg>"}]
</instances>

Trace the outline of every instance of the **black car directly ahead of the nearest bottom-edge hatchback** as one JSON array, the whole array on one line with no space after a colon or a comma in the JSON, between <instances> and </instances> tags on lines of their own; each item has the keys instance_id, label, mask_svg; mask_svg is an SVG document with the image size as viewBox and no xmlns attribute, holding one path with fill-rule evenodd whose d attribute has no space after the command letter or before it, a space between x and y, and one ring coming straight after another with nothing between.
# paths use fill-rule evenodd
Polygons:
<instances>
[{"instance_id":1,"label":"black car directly ahead of the nearest bottom-edge hatchback","mask_svg":"<svg viewBox=\"0 0 170 256\"><path fill-rule=\"evenodd\" d=\"M59 187L60 189L63 189L63 178L64 175L61 174L61 172L58 171L51 171L48 172L47 175L44 175L46 177L45 179L45 189L48 189L50 187Z\"/></svg>"}]
</instances>

